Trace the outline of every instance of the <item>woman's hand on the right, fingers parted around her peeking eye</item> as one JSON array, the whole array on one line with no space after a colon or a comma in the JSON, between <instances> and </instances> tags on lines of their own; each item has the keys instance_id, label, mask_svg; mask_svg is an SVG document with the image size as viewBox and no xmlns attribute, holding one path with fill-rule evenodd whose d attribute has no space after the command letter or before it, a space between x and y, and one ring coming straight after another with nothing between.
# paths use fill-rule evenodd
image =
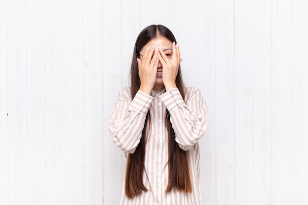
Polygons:
<instances>
[{"instance_id":1,"label":"woman's hand on the right, fingers parted around her peeking eye","mask_svg":"<svg viewBox=\"0 0 308 205\"><path fill-rule=\"evenodd\" d=\"M175 79L178 75L180 62L182 61L179 46L172 43L173 54L171 60L165 55L163 50L159 48L158 58L162 64L162 82L166 91L171 88L176 88Z\"/></svg>"}]
</instances>

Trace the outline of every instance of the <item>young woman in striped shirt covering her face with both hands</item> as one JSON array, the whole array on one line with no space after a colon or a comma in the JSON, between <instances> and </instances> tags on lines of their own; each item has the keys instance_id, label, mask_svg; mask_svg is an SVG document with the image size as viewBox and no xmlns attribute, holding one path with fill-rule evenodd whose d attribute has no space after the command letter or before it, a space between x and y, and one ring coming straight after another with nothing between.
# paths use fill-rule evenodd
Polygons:
<instances>
[{"instance_id":1,"label":"young woman in striped shirt covering her face with both hands","mask_svg":"<svg viewBox=\"0 0 308 205\"><path fill-rule=\"evenodd\" d=\"M138 35L130 70L109 121L110 137L126 155L121 205L202 205L198 140L207 105L185 88L172 32L152 25Z\"/></svg>"}]
</instances>

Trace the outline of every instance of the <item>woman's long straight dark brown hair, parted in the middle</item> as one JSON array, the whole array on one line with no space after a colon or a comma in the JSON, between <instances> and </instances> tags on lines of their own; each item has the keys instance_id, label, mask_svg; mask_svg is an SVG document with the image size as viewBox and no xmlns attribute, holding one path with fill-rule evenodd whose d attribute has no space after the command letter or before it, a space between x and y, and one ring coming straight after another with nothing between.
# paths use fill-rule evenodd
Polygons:
<instances>
[{"instance_id":1,"label":"woman's long straight dark brown hair, parted in the middle","mask_svg":"<svg viewBox=\"0 0 308 205\"><path fill-rule=\"evenodd\" d=\"M157 36L163 36L171 42L177 42L173 33L162 25L151 25L143 29L137 37L133 58L130 69L130 86L131 97L135 97L137 91L140 88L140 78L138 74L138 62L137 58L140 57L141 49L152 39ZM183 99L185 99L185 87L181 75L181 66L179 67L178 75L176 77L176 85L179 89ZM147 127L150 122L149 112L147 114L144 128L142 131L142 137L136 150L132 154L128 154L126 163L126 176L125 176L125 194L128 198L133 198L142 193L142 191L148 191L143 184L144 173L144 160L145 160L145 146L146 146L146 134ZM189 176L188 166L188 151L184 151L175 141L175 132L171 126L170 115L167 110L166 126L168 130L168 147L169 147L169 176L166 192L170 192L173 188L178 191L191 192L191 181Z\"/></svg>"}]
</instances>

